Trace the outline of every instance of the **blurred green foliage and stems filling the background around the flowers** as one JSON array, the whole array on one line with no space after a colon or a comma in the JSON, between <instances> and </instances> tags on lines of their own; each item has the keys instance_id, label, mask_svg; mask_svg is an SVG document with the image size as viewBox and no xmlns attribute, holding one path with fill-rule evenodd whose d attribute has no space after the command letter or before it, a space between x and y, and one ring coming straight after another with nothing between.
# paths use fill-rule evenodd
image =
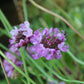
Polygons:
<instances>
[{"instance_id":1,"label":"blurred green foliage and stems filling the background around the flowers","mask_svg":"<svg viewBox=\"0 0 84 84\"><path fill-rule=\"evenodd\" d=\"M24 1L24 0L23 0ZM84 1L83 0L35 0L41 6L63 16L69 21L69 23L75 27L75 29L84 36ZM64 4L62 4L64 3ZM27 5L27 10L25 7ZM31 23L31 28L35 31L39 28L50 28L57 27L60 30L65 30L68 33L67 44L70 48L67 53L62 53L62 58L57 60L46 60L44 57L33 60L27 53L26 50L20 49L22 59L24 62L24 72L20 70L17 66L11 63L5 54L0 51L2 57L7 59L20 73L20 75L15 79L9 79L12 84L49 84L49 81L53 81L56 84L56 80L64 81L66 84L84 84L84 42L81 37L79 37L69 26L67 26L58 17L54 17L48 13L45 13L31 3L26 4L23 2L23 10L25 20L29 20ZM33 11L34 10L34 11ZM27 17L28 14L28 17ZM11 16L10 16L11 17ZM3 35L10 36L10 30L13 26L6 19L3 12L0 10L0 20L4 25L5 30L0 28L0 37ZM9 51L2 43L0 47L5 51ZM10 51L9 51L10 52ZM14 53L12 53L14 54ZM16 56L17 57L17 56ZM70 73L69 73L70 72ZM79 80L79 81L77 81ZM28 82L28 83L27 83ZM0 84L6 84L6 80L0 81Z\"/></svg>"}]
</instances>

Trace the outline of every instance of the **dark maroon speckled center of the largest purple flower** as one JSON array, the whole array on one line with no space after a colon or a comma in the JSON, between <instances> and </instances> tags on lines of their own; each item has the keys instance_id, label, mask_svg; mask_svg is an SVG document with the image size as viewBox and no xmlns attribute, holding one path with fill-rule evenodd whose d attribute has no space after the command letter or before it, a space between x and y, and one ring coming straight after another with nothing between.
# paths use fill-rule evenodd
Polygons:
<instances>
[{"instance_id":1,"label":"dark maroon speckled center of the largest purple flower","mask_svg":"<svg viewBox=\"0 0 84 84\"><path fill-rule=\"evenodd\" d=\"M54 49L58 49L57 48L57 45L59 43L61 43L61 41L56 38L55 36L47 36L47 37L44 37L41 41L41 43L44 45L44 47L46 48L54 48Z\"/></svg>"}]
</instances>

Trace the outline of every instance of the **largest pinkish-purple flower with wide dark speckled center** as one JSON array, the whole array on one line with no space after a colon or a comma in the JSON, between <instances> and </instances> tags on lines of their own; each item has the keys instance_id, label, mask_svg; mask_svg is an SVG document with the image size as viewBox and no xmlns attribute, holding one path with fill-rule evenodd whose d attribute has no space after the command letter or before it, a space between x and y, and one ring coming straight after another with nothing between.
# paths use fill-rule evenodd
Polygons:
<instances>
[{"instance_id":1,"label":"largest pinkish-purple flower with wide dark speckled center","mask_svg":"<svg viewBox=\"0 0 84 84\"><path fill-rule=\"evenodd\" d=\"M61 52L66 52L69 45L65 46L65 32L59 31L58 28L45 28L42 33L36 30L33 36L30 38L33 46L28 48L28 53L33 59L39 59L45 57L47 60L61 58Z\"/></svg>"}]
</instances>

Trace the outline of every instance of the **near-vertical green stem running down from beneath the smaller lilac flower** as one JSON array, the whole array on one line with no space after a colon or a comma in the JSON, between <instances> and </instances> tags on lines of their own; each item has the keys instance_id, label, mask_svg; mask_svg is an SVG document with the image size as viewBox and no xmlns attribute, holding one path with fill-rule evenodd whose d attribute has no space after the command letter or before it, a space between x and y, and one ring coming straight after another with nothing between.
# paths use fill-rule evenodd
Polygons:
<instances>
[{"instance_id":1,"label":"near-vertical green stem running down from beneath the smaller lilac flower","mask_svg":"<svg viewBox=\"0 0 84 84\"><path fill-rule=\"evenodd\" d=\"M23 65L24 65L24 70L25 70L25 74L26 74L26 78L27 78L27 82L28 84L30 84L29 82L29 76L28 76L28 71L27 71L27 65L26 65L26 62L25 62L25 54L24 54L24 50L22 48L20 48L20 54L22 56L22 61L23 61Z\"/></svg>"}]
</instances>

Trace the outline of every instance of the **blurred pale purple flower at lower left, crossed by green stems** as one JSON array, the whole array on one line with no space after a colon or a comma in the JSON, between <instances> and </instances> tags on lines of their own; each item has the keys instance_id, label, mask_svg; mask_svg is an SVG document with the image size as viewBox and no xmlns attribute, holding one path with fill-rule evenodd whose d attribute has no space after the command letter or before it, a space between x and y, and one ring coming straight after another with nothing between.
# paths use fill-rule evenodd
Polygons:
<instances>
[{"instance_id":1,"label":"blurred pale purple flower at lower left, crossed by green stems","mask_svg":"<svg viewBox=\"0 0 84 84\"><path fill-rule=\"evenodd\" d=\"M16 53L18 56L20 56L19 50L15 50L15 46L14 46L14 45L11 46L11 47L9 48L9 50L10 50L11 52L13 52L13 53ZM5 52L5 55L6 55L7 58L8 58L9 60L11 60L16 66L22 67L22 64L23 64L22 61L19 61L19 60L18 60L15 56L13 56L11 53ZM3 65L4 65L4 68L5 68L6 72L7 72L7 76L8 76L8 77L12 77L15 68L14 68L6 59L4 59Z\"/></svg>"}]
</instances>

